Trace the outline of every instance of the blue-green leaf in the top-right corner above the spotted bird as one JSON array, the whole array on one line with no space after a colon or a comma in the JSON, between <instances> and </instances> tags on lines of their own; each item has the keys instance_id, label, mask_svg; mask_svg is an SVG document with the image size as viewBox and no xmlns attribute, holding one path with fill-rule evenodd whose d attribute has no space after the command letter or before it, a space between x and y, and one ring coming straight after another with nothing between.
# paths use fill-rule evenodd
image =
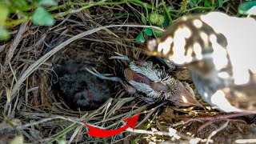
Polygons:
<instances>
[{"instance_id":1,"label":"blue-green leaf in the top-right corner above the spotted bird","mask_svg":"<svg viewBox=\"0 0 256 144\"><path fill-rule=\"evenodd\" d=\"M238 13L256 15L256 1L242 2L238 6Z\"/></svg>"}]
</instances>

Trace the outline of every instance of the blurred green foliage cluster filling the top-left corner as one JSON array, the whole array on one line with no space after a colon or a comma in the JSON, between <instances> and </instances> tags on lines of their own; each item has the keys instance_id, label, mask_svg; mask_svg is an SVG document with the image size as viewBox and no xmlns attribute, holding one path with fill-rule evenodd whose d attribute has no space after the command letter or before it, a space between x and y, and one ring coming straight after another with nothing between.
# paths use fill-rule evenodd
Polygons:
<instances>
[{"instance_id":1,"label":"blurred green foliage cluster filling the top-left corner","mask_svg":"<svg viewBox=\"0 0 256 144\"><path fill-rule=\"evenodd\" d=\"M47 6L57 6L57 2L54 0L0 0L0 40L10 38L6 23L13 19L32 18L35 25L53 26L54 18L46 10Z\"/></svg>"}]
</instances>

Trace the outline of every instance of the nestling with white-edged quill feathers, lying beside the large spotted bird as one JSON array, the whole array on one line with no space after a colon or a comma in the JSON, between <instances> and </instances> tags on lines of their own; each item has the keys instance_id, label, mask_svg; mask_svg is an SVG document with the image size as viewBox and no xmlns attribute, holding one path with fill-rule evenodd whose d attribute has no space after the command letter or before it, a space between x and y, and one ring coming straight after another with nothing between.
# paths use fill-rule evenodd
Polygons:
<instances>
[{"instance_id":1,"label":"nestling with white-edged quill feathers, lying beside the large spotted bird","mask_svg":"<svg viewBox=\"0 0 256 144\"><path fill-rule=\"evenodd\" d=\"M121 82L128 93L134 94L139 91L146 94L146 97L151 98L152 101L169 100L176 106L202 106L195 100L193 91L191 94L182 82L167 74L165 70L154 66L153 62L134 62L122 54L111 58L129 62L129 67L124 70L126 81L116 77L108 78L98 72L90 72L98 75L99 78Z\"/></svg>"}]
</instances>

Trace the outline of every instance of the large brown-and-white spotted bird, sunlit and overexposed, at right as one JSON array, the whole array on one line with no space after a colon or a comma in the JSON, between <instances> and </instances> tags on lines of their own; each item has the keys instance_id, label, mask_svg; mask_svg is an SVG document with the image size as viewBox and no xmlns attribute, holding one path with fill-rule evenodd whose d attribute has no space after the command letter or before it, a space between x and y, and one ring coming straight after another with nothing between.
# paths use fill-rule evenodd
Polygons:
<instances>
[{"instance_id":1,"label":"large brown-and-white spotted bird, sunlit and overexposed, at right","mask_svg":"<svg viewBox=\"0 0 256 144\"><path fill-rule=\"evenodd\" d=\"M254 18L220 12L183 17L161 38L148 42L150 54L191 71L202 98L224 112L256 112Z\"/></svg>"}]
</instances>

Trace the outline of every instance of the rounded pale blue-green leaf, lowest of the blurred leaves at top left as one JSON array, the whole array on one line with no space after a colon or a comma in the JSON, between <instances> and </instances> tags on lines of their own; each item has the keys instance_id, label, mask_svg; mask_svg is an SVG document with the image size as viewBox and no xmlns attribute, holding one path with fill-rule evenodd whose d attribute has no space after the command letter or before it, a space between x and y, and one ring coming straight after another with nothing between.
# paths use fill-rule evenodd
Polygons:
<instances>
[{"instance_id":1,"label":"rounded pale blue-green leaf, lowest of the blurred leaves at top left","mask_svg":"<svg viewBox=\"0 0 256 144\"><path fill-rule=\"evenodd\" d=\"M50 13L48 13L48 11L41 6L34 11L32 21L35 25L39 26L53 26L55 22Z\"/></svg>"}]
</instances>

